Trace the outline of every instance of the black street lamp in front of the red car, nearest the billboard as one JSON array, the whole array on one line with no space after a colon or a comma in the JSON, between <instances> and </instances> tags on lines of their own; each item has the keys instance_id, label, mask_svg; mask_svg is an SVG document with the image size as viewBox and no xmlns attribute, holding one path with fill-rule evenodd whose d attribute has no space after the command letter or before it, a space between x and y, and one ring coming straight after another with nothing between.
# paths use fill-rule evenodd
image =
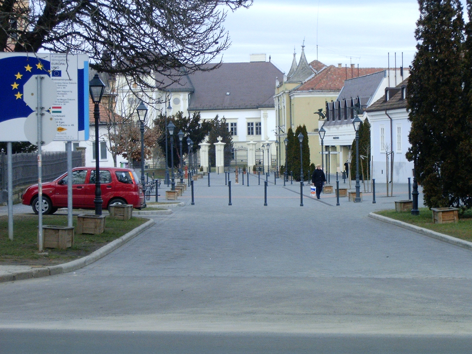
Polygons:
<instances>
[{"instance_id":1,"label":"black street lamp in front of the red car, nearest the billboard","mask_svg":"<svg viewBox=\"0 0 472 354\"><path fill-rule=\"evenodd\" d=\"M95 215L101 215L101 186L100 186L100 157L98 149L98 122L100 121L100 101L105 91L105 84L100 80L98 74L93 76L93 79L89 82L90 96L93 101L93 118L95 119Z\"/></svg>"}]
</instances>

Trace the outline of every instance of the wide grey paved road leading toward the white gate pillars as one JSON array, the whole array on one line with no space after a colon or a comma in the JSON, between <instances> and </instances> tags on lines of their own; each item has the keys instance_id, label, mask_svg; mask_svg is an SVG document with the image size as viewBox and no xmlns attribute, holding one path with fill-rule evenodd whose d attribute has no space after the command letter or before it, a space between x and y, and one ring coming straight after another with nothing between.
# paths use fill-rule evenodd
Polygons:
<instances>
[{"instance_id":1,"label":"wide grey paved road leading toward the white gate pillars","mask_svg":"<svg viewBox=\"0 0 472 354\"><path fill-rule=\"evenodd\" d=\"M446 353L440 338L456 352L472 349L471 251L367 217L406 199L406 185L388 198L378 185L377 204L364 194L340 206L334 194L318 201L305 187L300 207L299 188L270 183L263 206L252 176L249 187L233 184L228 206L224 175L212 174L211 187L198 180L194 206L187 191L185 207L153 217L155 226L100 261L0 284L0 339L26 329L31 343L43 330L84 338L107 330L116 340L130 336L121 331L149 335L143 348L154 341L161 353L195 333L210 336L208 350L188 342L182 352L277 353L261 343L297 338L305 344L279 352ZM384 350L388 343L398 346Z\"/></svg>"}]
</instances>

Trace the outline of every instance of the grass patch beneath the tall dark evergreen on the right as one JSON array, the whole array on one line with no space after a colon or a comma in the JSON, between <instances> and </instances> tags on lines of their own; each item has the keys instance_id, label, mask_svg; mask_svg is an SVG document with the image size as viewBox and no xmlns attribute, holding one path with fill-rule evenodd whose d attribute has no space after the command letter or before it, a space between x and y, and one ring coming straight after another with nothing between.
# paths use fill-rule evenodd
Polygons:
<instances>
[{"instance_id":1,"label":"grass patch beneath the tall dark evergreen on the right","mask_svg":"<svg viewBox=\"0 0 472 354\"><path fill-rule=\"evenodd\" d=\"M419 210L420 215L416 216L410 212L397 212L395 210L382 210L375 213L472 242L472 210L459 214L459 222L448 224L433 224L433 212L428 208L419 208Z\"/></svg>"}]
</instances>

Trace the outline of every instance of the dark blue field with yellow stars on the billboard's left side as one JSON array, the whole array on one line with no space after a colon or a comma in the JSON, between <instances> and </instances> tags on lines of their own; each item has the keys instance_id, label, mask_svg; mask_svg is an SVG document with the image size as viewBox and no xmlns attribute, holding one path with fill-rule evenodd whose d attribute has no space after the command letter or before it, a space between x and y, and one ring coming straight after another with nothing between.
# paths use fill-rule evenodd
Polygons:
<instances>
[{"instance_id":1,"label":"dark blue field with yellow stars on the billboard's left side","mask_svg":"<svg viewBox=\"0 0 472 354\"><path fill-rule=\"evenodd\" d=\"M12 56L0 59L0 122L28 117L36 107L23 101L23 85L34 75L49 75L50 62L34 56ZM60 76L60 75L59 75ZM48 107L49 108L49 107Z\"/></svg>"}]
</instances>

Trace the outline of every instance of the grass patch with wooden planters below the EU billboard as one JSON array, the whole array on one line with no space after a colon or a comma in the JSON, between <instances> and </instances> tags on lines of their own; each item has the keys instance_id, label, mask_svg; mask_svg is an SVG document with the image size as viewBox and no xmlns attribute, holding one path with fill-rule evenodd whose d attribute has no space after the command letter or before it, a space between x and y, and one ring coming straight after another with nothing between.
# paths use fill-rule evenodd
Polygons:
<instances>
[{"instance_id":1,"label":"grass patch with wooden planters below the EU billboard","mask_svg":"<svg viewBox=\"0 0 472 354\"><path fill-rule=\"evenodd\" d=\"M48 256L38 255L37 215L15 215L13 217L13 241L8 239L8 216L0 217L0 264L49 266L84 257L105 244L125 235L148 219L105 219L105 232L101 235L75 235L74 245L65 250L46 248ZM67 226L67 215L43 215L43 225ZM77 226L77 217L73 217Z\"/></svg>"}]
</instances>

